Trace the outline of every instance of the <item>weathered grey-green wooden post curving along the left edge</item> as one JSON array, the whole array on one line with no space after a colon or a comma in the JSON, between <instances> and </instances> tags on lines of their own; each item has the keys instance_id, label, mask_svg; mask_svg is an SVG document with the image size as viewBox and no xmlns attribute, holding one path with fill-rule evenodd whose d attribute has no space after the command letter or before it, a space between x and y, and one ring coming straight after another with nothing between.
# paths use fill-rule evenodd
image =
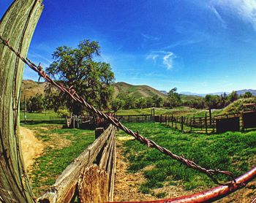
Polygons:
<instances>
[{"instance_id":1,"label":"weathered grey-green wooden post curving along the left edge","mask_svg":"<svg viewBox=\"0 0 256 203\"><path fill-rule=\"evenodd\" d=\"M27 55L42 13L42 0L16 0L0 21L0 34ZM20 149L20 85L24 64L0 45L0 200L34 202Z\"/></svg>"}]
</instances>

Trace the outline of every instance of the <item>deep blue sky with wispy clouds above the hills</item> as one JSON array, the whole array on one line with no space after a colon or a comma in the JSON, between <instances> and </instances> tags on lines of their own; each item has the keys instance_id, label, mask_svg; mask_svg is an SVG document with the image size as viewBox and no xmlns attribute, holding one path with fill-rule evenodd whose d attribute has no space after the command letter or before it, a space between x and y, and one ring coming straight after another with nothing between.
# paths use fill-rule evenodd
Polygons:
<instances>
[{"instance_id":1,"label":"deep blue sky with wispy clouds above the hills","mask_svg":"<svg viewBox=\"0 0 256 203\"><path fill-rule=\"evenodd\" d=\"M12 1L0 1L3 15ZM99 42L116 82L211 93L256 89L256 0L44 0L29 58ZM26 69L24 79L37 80Z\"/></svg>"}]
</instances>

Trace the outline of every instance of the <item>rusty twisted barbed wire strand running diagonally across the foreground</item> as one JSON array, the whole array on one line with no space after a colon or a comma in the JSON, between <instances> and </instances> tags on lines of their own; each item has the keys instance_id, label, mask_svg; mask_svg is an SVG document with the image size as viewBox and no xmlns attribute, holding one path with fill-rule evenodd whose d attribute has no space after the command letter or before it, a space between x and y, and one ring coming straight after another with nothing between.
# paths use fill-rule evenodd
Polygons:
<instances>
[{"instance_id":1,"label":"rusty twisted barbed wire strand running diagonally across the foreground","mask_svg":"<svg viewBox=\"0 0 256 203\"><path fill-rule=\"evenodd\" d=\"M227 175L232 178L233 183L236 183L236 179L233 176L232 172L222 171L220 169L203 168L202 166L197 165L194 161L184 158L184 156L178 156L178 155L172 153L170 150L167 150L166 148L163 148L162 146L157 145L157 143L155 143L151 139L147 139L146 137L143 137L142 135L140 135L138 131L135 133L134 131L128 129L118 119L113 118L113 116L107 115L104 112L97 110L94 106L87 103L86 100L83 99L82 96L79 96L78 93L76 93L75 89L73 89L73 86L70 86L69 88L67 88L64 85L62 85L61 83L58 83L58 82L54 81L53 79L51 79L50 76L43 71L41 64L39 64L37 66L32 61L30 61L29 58L24 58L22 55L20 55L20 53L18 53L17 50L15 50L10 45L9 40L6 40L3 37L1 37L1 34L0 34L0 39L2 41L1 44L3 44L6 47L9 47L9 49L12 50L12 52L15 53L15 55L18 58L20 58L21 61L23 61L31 69L33 69L34 72L37 72L39 74L39 78L43 77L45 80L48 81L48 83L51 83L52 85L56 86L62 92L67 93L73 100L75 100L76 102L79 102L80 104L83 104L91 112L94 112L97 115L99 115L100 117L105 118L106 120L108 120L110 123L112 123L117 128L123 130L125 133L127 133L127 134L131 135L132 137L134 137L135 139L137 139L141 144L146 144L148 146L148 148L155 148L155 149L159 150L161 153L164 153L165 155L170 156L171 158L175 159L176 161L180 161L181 163L187 165L189 168L192 168L199 172L205 173L206 175L211 177L211 179L214 180L215 183L218 183L218 182L213 177L213 175L218 175L218 174Z\"/></svg>"}]
</instances>

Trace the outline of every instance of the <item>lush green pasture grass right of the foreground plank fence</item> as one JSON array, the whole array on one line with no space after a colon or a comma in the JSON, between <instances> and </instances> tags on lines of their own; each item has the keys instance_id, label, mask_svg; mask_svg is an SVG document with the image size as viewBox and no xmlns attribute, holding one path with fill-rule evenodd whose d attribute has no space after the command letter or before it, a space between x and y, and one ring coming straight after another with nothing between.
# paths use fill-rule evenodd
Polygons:
<instances>
[{"instance_id":1,"label":"lush green pasture grass right of the foreground plank fence","mask_svg":"<svg viewBox=\"0 0 256 203\"><path fill-rule=\"evenodd\" d=\"M227 170L237 177L256 164L255 131L206 135L182 134L159 123L129 123L127 127L207 169ZM127 137L127 134L118 131L118 136ZM129 161L129 172L143 172L146 182L140 184L140 191L145 194L156 196L154 189L167 185L177 185L185 190L214 185L207 175L189 169L158 150L148 149L140 142L124 141L123 153ZM228 180L224 175L218 175L217 179L222 183ZM164 197L165 193L160 195Z\"/></svg>"}]
</instances>

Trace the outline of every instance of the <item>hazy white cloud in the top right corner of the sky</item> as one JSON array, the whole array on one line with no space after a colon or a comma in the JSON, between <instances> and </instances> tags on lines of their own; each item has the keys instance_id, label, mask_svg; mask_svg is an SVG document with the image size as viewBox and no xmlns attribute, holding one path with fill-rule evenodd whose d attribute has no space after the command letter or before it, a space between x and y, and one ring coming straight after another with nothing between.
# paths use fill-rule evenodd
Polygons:
<instances>
[{"instance_id":1,"label":"hazy white cloud in the top right corner of the sky","mask_svg":"<svg viewBox=\"0 0 256 203\"><path fill-rule=\"evenodd\" d=\"M256 30L255 0L212 0L210 4L214 7L225 9L225 11L236 15L241 20L244 20L244 22L252 24Z\"/></svg>"}]
</instances>

